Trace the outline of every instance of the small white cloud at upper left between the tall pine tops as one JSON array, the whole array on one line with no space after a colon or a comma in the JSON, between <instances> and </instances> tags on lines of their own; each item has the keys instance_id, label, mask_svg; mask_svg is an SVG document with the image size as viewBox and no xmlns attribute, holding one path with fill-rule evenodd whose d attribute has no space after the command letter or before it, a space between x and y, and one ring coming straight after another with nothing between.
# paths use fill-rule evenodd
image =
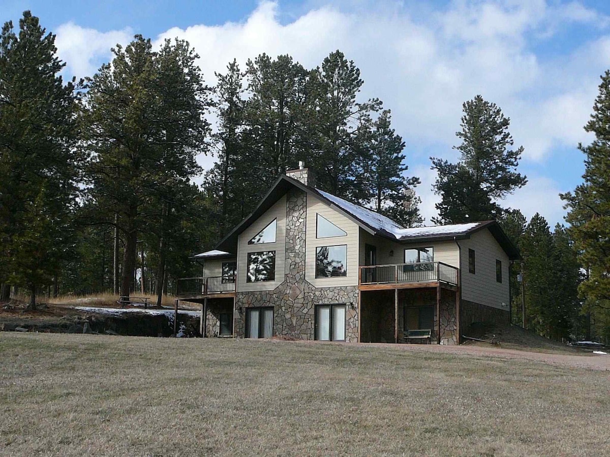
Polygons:
<instances>
[{"instance_id":1,"label":"small white cloud at upper left between the tall pine tops","mask_svg":"<svg viewBox=\"0 0 610 457\"><path fill-rule=\"evenodd\" d=\"M129 27L98 32L72 22L59 26L56 34L57 54L67 64L64 72L77 78L93 76L101 63L110 60L110 48L129 43L133 35Z\"/></svg>"}]
</instances>

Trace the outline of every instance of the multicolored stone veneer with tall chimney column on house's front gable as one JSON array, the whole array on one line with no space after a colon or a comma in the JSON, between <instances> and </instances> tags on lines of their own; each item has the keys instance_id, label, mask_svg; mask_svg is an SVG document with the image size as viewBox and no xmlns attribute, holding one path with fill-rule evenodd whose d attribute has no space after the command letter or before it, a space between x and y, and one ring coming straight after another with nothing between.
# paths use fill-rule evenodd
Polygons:
<instances>
[{"instance_id":1,"label":"multicolored stone veneer with tall chimney column on house's front gable","mask_svg":"<svg viewBox=\"0 0 610 457\"><path fill-rule=\"evenodd\" d=\"M235 294L235 336L245 336L246 308L273 306L273 335L315 338L315 305L346 303L345 341L358 340L358 287L316 288L305 280L307 194L293 188L286 194L284 282L273 291ZM282 272L276 271L276 274ZM239 312L239 308L243 308Z\"/></svg>"}]
</instances>

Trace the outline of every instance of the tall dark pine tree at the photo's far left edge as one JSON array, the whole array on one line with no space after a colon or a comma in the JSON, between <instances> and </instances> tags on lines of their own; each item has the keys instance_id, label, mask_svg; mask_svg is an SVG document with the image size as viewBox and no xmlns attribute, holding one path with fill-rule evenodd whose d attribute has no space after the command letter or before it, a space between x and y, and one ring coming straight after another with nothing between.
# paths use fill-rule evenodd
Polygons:
<instances>
[{"instance_id":1,"label":"tall dark pine tree at the photo's far left edge","mask_svg":"<svg viewBox=\"0 0 610 457\"><path fill-rule=\"evenodd\" d=\"M64 83L55 35L29 11L0 34L0 283L24 286L30 305L59 274L71 242L81 156L77 83Z\"/></svg>"}]
</instances>

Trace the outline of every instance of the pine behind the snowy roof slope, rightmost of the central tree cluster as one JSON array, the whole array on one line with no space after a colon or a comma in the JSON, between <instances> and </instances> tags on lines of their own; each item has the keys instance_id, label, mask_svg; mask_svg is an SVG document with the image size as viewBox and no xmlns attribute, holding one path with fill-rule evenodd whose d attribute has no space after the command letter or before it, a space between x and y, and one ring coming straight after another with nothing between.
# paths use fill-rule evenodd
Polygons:
<instances>
[{"instance_id":1,"label":"pine behind the snowy roof slope, rightmost of the central tree cluster","mask_svg":"<svg viewBox=\"0 0 610 457\"><path fill-rule=\"evenodd\" d=\"M420 183L417 177L407 178L404 163L404 141L391 126L389 110L384 110L373 124L370 149L361 156L364 171L363 200L371 201L375 211L403 224L422 224L417 196L409 192Z\"/></svg>"}]
</instances>

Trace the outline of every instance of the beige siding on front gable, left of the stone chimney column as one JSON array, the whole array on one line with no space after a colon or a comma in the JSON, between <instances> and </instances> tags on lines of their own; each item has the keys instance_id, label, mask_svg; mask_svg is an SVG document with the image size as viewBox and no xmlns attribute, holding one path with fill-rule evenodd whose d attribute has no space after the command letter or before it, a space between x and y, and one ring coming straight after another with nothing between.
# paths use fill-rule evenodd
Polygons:
<instances>
[{"instance_id":1,"label":"beige siding on front gable, left of the stone chimney column","mask_svg":"<svg viewBox=\"0 0 610 457\"><path fill-rule=\"evenodd\" d=\"M257 233L273 221L278 219L278 227L275 243L248 244ZM284 258L286 238L286 197L276 202L265 214L260 216L252 225L242 232L237 238L237 291L266 291L273 290L284 281ZM248 283L246 282L246 271L248 269L248 253L267 250L275 251L275 280Z\"/></svg>"}]
</instances>

